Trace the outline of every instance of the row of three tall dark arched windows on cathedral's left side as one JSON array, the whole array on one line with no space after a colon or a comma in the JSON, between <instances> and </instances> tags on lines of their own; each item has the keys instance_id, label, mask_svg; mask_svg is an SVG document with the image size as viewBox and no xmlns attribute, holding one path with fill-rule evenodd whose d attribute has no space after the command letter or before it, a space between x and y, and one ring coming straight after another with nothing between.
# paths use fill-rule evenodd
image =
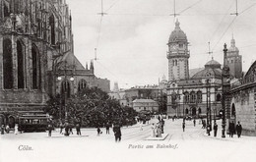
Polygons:
<instances>
[{"instance_id":1,"label":"row of three tall dark arched windows on cathedral's left side","mask_svg":"<svg viewBox=\"0 0 256 162\"><path fill-rule=\"evenodd\" d=\"M3 40L3 87L4 89L14 88L14 77L18 77L18 88L26 88L27 76L29 75L26 67L27 63L26 47L22 40L17 40L17 74L14 74L14 63L12 41L9 38ZM30 57L29 57L30 58ZM32 89L40 88L41 67L39 52L35 44L32 43Z\"/></svg>"}]
</instances>

